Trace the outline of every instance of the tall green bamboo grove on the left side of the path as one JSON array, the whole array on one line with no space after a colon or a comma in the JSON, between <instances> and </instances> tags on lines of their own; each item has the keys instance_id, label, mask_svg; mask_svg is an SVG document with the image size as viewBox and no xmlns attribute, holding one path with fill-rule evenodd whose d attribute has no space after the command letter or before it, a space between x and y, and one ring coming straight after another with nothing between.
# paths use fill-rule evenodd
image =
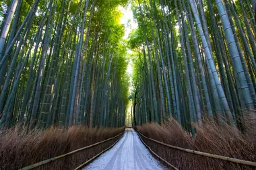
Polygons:
<instances>
[{"instance_id":1,"label":"tall green bamboo grove on the left side of the path","mask_svg":"<svg viewBox=\"0 0 256 170\"><path fill-rule=\"evenodd\" d=\"M127 1L0 4L2 128L125 124L129 79L118 7Z\"/></svg>"}]
</instances>

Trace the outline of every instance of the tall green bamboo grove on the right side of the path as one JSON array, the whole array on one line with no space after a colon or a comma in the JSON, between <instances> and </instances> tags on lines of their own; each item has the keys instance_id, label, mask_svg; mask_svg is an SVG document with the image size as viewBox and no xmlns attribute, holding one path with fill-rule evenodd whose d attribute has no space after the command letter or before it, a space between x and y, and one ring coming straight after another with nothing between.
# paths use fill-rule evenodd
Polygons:
<instances>
[{"instance_id":1,"label":"tall green bamboo grove on the right side of the path","mask_svg":"<svg viewBox=\"0 0 256 170\"><path fill-rule=\"evenodd\" d=\"M133 49L133 122L210 118L245 130L256 106L254 1L137 0ZM249 122L250 123L250 122Z\"/></svg>"}]
</instances>

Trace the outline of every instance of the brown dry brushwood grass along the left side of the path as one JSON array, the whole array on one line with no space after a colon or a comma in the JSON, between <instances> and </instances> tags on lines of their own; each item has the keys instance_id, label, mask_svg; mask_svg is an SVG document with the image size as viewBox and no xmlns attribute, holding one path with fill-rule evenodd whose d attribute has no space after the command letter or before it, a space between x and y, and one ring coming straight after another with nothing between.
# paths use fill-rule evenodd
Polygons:
<instances>
[{"instance_id":1,"label":"brown dry brushwood grass along the left side of the path","mask_svg":"<svg viewBox=\"0 0 256 170\"><path fill-rule=\"evenodd\" d=\"M73 126L69 129L50 128L26 132L20 128L0 131L0 169L19 169L69 153L102 140L117 136L124 128L86 128ZM121 136L119 136L121 137ZM74 169L108 148L119 138L109 140L84 151L57 159L36 169Z\"/></svg>"}]
</instances>

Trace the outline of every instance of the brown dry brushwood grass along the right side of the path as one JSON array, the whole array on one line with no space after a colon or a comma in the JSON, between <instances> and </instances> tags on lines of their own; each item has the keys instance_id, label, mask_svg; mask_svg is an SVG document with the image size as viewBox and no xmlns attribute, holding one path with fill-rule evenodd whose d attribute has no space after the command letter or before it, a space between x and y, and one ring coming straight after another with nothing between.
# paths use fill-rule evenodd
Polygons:
<instances>
[{"instance_id":1,"label":"brown dry brushwood grass along the right side of the path","mask_svg":"<svg viewBox=\"0 0 256 170\"><path fill-rule=\"evenodd\" d=\"M162 126L146 124L137 127L137 130L147 137L166 144L256 162L255 124L247 128L247 134L250 134L250 138L247 138L239 130L227 124L226 126L219 127L213 122L207 121L202 126L197 124L193 126L197 131L194 137L185 132L173 119L168 120ZM146 138L142 139L154 152L178 169L256 169L247 165L238 165L237 163L185 153L184 151L156 144L156 142Z\"/></svg>"}]
</instances>

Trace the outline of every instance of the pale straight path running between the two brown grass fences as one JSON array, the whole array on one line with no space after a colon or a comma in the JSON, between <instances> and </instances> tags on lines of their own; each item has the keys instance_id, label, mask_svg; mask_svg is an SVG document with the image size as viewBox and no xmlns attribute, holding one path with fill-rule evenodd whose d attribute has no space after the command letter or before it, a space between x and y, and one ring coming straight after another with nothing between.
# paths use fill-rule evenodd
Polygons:
<instances>
[{"instance_id":1,"label":"pale straight path running between the two brown grass fences","mask_svg":"<svg viewBox=\"0 0 256 170\"><path fill-rule=\"evenodd\" d=\"M165 169L139 140L139 136L133 129L126 129L123 138L90 163L86 169L103 170L158 170Z\"/></svg>"}]
</instances>

